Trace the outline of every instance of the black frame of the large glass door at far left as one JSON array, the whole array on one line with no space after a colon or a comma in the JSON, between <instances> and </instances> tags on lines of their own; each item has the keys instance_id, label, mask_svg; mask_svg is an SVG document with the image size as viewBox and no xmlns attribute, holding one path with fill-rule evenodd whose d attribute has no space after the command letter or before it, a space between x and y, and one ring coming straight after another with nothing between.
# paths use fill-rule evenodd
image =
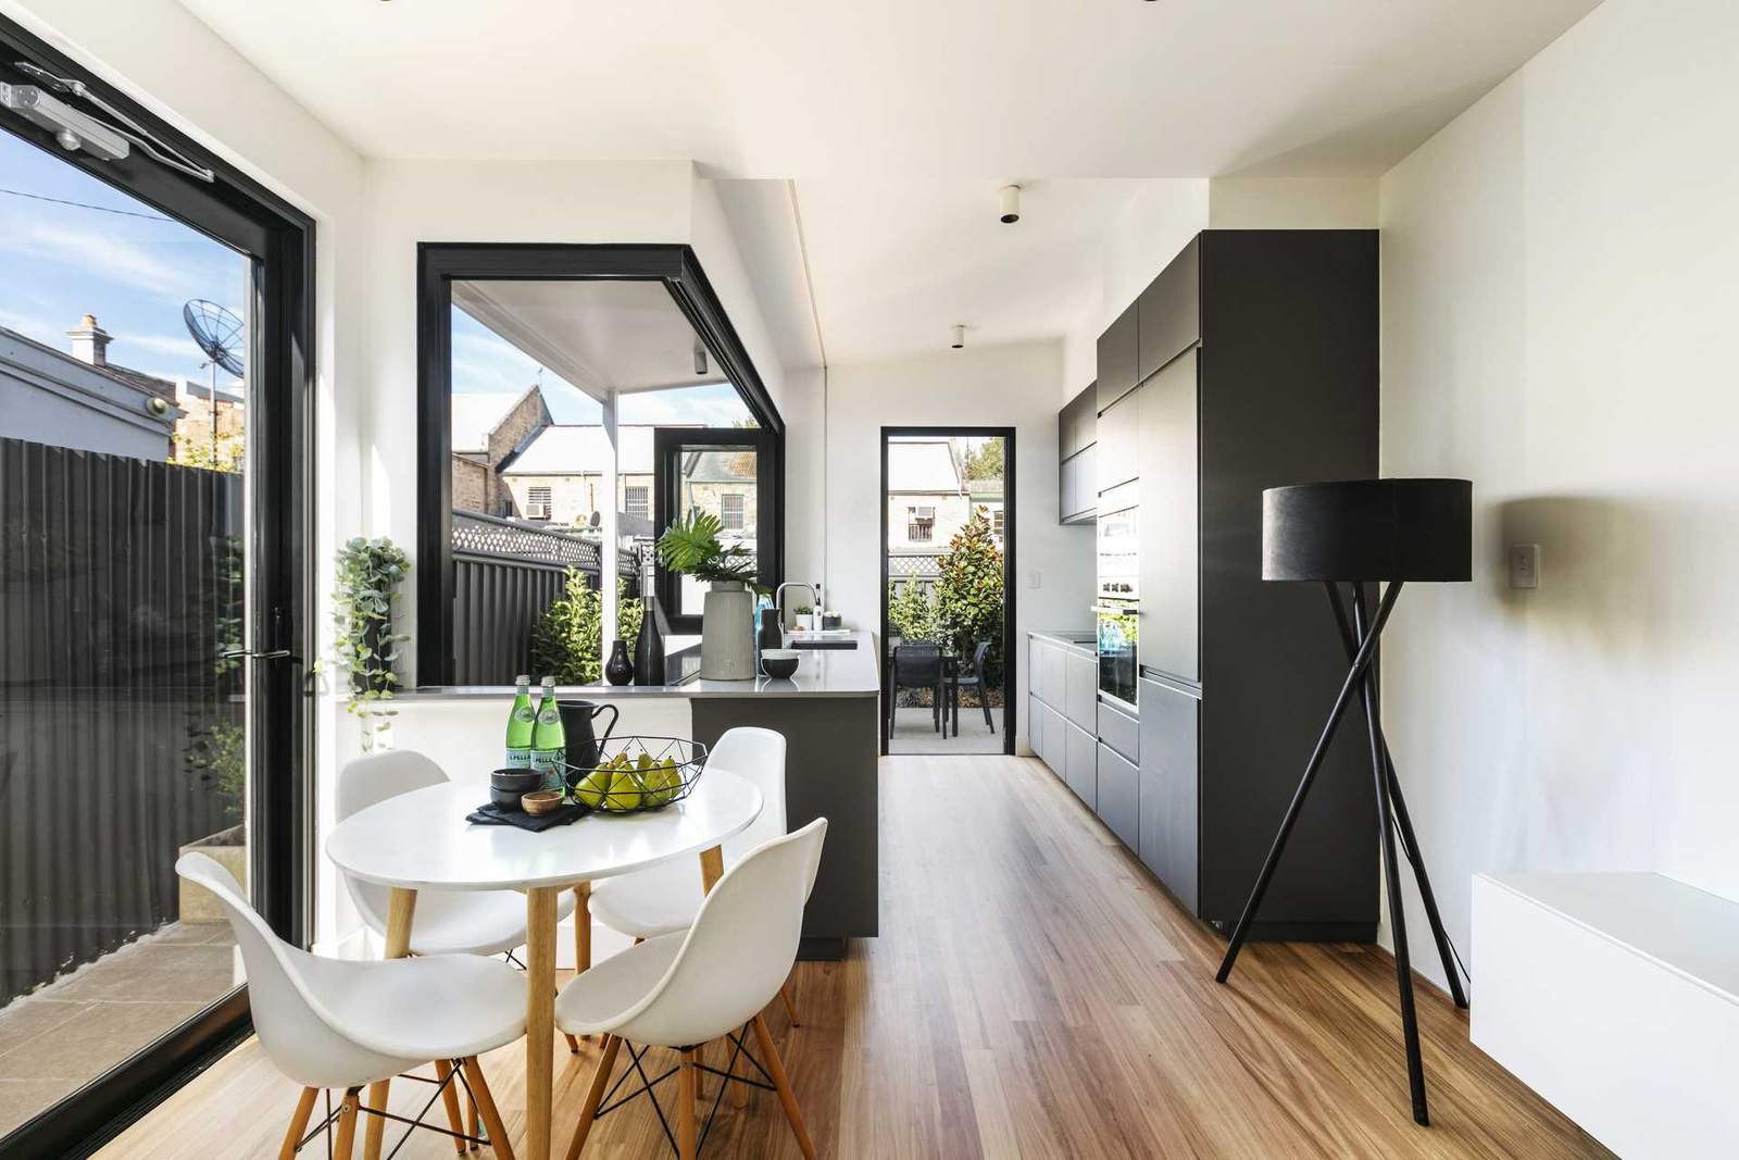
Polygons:
<instances>
[{"instance_id":1,"label":"black frame of the large glass door at far left","mask_svg":"<svg viewBox=\"0 0 1739 1160\"><path fill-rule=\"evenodd\" d=\"M61 150L54 136L0 110L0 129L59 157L129 197L245 252L252 264L249 334L250 438L247 473L261 499L249 539L249 616L256 652L249 697L250 795L256 802L249 873L254 904L287 941L306 946L313 913L313 744L308 661L313 637L313 398L315 221L198 141L153 115L127 92L0 16L0 80L35 83L12 64L28 61L82 82L190 160L214 181L176 172L134 151L118 162ZM136 1052L45 1115L0 1139L10 1157L89 1155L118 1136L193 1075L252 1031L247 988L216 1003L174 1035Z\"/></svg>"}]
</instances>

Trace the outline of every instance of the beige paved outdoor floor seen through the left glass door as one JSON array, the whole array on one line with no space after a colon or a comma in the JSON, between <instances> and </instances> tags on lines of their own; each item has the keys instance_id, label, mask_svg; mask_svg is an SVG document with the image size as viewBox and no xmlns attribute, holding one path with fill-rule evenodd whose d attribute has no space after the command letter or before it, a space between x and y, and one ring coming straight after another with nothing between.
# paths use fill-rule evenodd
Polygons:
<instances>
[{"instance_id":1,"label":"beige paved outdoor floor seen through the left glass door","mask_svg":"<svg viewBox=\"0 0 1739 1160\"><path fill-rule=\"evenodd\" d=\"M191 1019L235 984L230 923L174 922L12 1000L0 1009L0 1136Z\"/></svg>"}]
</instances>

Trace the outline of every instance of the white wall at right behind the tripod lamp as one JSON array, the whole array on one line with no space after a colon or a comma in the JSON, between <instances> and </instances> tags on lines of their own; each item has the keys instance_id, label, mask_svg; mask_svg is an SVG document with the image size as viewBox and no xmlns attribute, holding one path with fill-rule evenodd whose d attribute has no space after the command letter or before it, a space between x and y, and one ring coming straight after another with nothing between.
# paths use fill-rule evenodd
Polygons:
<instances>
[{"instance_id":1,"label":"white wall at right behind the tripod lamp","mask_svg":"<svg viewBox=\"0 0 1739 1160\"><path fill-rule=\"evenodd\" d=\"M1478 870L1739 897L1736 43L1729 0L1607 0L1383 179L1383 471L1475 483L1473 583L1384 650L1464 951Z\"/></svg>"}]
</instances>

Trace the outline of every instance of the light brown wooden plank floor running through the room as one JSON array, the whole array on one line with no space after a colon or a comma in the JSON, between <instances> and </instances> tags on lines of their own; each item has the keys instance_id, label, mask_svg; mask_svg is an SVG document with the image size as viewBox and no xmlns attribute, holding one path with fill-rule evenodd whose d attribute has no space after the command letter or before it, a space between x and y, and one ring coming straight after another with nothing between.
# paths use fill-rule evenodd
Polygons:
<instances>
[{"instance_id":1,"label":"light brown wooden plank floor running through the room","mask_svg":"<svg viewBox=\"0 0 1739 1160\"><path fill-rule=\"evenodd\" d=\"M1221 939L1038 762L883 758L882 824L882 937L798 967L803 1026L788 1030L777 1003L767 1016L824 1157L1607 1155L1473 1049L1429 988L1433 1127L1416 1127L1386 957L1252 946L1217 986ZM556 1047L565 1148L596 1047ZM518 1134L522 1049L483 1066ZM412 1087L395 1085L395 1103L410 1106ZM294 1104L250 1042L101 1155L275 1155ZM454 1153L419 1134L398 1155ZM668 1151L642 1103L602 1120L586 1155ZM762 1092L727 1103L703 1148L796 1155Z\"/></svg>"}]
</instances>

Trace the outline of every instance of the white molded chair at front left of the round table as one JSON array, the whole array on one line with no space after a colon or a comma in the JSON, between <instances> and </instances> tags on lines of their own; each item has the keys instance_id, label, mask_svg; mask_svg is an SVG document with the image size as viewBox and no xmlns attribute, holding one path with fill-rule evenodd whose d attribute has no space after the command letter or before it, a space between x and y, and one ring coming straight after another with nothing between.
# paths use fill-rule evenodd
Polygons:
<instances>
[{"instance_id":1,"label":"white molded chair at front left of the round table","mask_svg":"<svg viewBox=\"0 0 1739 1160\"><path fill-rule=\"evenodd\" d=\"M496 1155L511 1160L508 1130L476 1057L525 1035L525 979L518 970L475 955L320 958L273 934L230 871L210 857L183 854L176 873L223 904L247 963L259 1043L280 1071L303 1085L280 1160L296 1155L315 1097L325 1089L344 1092L334 1155L350 1160L362 1089L431 1061L449 1122L459 1122L454 1073L463 1071ZM464 1151L464 1143L456 1143Z\"/></svg>"}]
</instances>

